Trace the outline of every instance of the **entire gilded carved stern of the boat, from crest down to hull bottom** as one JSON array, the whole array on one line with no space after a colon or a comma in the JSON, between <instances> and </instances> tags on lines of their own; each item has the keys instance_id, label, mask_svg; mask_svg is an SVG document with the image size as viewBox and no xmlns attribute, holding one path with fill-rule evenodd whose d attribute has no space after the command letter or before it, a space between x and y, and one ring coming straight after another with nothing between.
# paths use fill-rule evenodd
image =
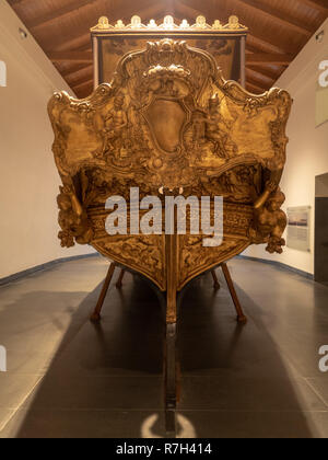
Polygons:
<instances>
[{"instance_id":1,"label":"entire gilded carved stern of the boat, from crest down to hull bottom","mask_svg":"<svg viewBox=\"0 0 328 460\"><path fill-rule=\"evenodd\" d=\"M198 23L206 26L203 19ZM142 27L139 19L133 26ZM168 260L178 261L180 289L251 243L281 252L285 216L278 187L290 110L285 91L253 95L225 81L208 53L167 38L126 55L114 80L85 100L55 94L48 111L65 185L58 202L62 244L91 243L163 290ZM201 235L178 237L173 254L164 237L109 237L106 199L129 199L136 186L141 198L222 195L223 245L202 248Z\"/></svg>"}]
</instances>

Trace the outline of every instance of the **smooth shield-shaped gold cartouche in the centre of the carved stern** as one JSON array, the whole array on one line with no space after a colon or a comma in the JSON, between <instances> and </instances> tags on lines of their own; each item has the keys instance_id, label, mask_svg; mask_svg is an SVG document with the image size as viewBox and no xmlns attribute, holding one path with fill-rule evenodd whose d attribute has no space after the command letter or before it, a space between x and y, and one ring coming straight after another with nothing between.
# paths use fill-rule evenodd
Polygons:
<instances>
[{"instance_id":1,"label":"smooth shield-shaped gold cartouche in the centre of the carved stern","mask_svg":"<svg viewBox=\"0 0 328 460\"><path fill-rule=\"evenodd\" d=\"M187 123L186 107L175 100L156 99L144 116L160 149L167 153L176 152Z\"/></svg>"}]
</instances>

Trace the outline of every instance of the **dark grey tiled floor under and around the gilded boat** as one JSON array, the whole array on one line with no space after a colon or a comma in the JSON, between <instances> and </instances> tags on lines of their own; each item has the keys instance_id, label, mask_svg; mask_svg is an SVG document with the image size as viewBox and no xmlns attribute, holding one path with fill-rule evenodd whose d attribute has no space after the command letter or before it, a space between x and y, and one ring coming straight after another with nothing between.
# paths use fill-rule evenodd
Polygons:
<instances>
[{"instance_id":1,"label":"dark grey tiled floor under and around the gilded boat","mask_svg":"<svg viewBox=\"0 0 328 460\"><path fill-rule=\"evenodd\" d=\"M328 288L234 260L245 311L206 276L178 325L178 436L328 437ZM69 262L0 288L0 437L163 437L163 323L148 284L110 288L89 322L106 262Z\"/></svg>"}]
</instances>

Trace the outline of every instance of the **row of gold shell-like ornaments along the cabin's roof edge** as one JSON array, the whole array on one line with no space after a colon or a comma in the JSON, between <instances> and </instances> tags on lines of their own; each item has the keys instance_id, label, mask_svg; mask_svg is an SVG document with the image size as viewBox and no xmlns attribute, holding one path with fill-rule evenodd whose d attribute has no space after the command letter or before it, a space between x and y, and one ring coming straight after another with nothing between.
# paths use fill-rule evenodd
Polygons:
<instances>
[{"instance_id":1,"label":"row of gold shell-like ornaments along the cabin's roof edge","mask_svg":"<svg viewBox=\"0 0 328 460\"><path fill-rule=\"evenodd\" d=\"M221 24L219 20L215 20L213 25L209 25L207 23L207 19L202 15L198 16L196 19L196 23L192 25L189 25L188 21L184 19L180 24L176 24L173 16L167 15L164 18L163 22L161 24L156 24L154 20L151 20L147 25L142 23L141 18L139 16L132 16L131 22L129 24L124 24L121 20L117 21L115 25L109 24L109 20L106 16L102 16L98 20L97 25L91 28L92 32L105 32L106 30L116 28L118 31L140 31L140 30L164 30L164 31L172 31L172 30L184 30L187 31L190 30L190 32L196 31L224 31L224 32L247 32L248 28L239 23L239 20L237 16L233 15L229 19L227 24Z\"/></svg>"}]
</instances>

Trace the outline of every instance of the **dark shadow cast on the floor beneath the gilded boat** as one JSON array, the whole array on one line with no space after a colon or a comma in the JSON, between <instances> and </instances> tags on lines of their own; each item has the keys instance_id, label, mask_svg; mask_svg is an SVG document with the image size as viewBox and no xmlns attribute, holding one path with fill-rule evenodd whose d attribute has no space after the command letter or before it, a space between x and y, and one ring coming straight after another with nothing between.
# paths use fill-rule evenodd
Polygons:
<instances>
[{"instance_id":1,"label":"dark shadow cast on the floor beneath the gilded boat","mask_svg":"<svg viewBox=\"0 0 328 460\"><path fill-rule=\"evenodd\" d=\"M99 289L81 302L8 433L15 426L16 437L25 438L164 437L164 325L156 296L127 275L121 290L110 288L102 323L94 325L89 314ZM236 324L225 286L213 292L210 275L185 295L178 436L312 437L304 414L320 411L320 402L286 368L259 307L239 294L246 326Z\"/></svg>"}]
</instances>

